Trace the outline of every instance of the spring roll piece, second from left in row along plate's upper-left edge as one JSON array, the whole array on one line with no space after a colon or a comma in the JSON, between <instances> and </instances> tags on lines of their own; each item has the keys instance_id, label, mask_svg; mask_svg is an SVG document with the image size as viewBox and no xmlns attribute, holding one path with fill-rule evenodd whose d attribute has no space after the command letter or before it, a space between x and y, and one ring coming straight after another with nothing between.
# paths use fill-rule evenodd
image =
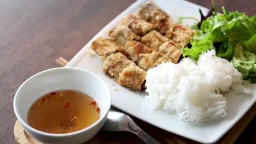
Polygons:
<instances>
[{"instance_id":1,"label":"spring roll piece, second from left in row along plate's upper-left edge","mask_svg":"<svg viewBox=\"0 0 256 144\"><path fill-rule=\"evenodd\" d=\"M127 41L131 40L141 40L141 37L133 33L128 26L115 28L113 32L109 33L109 37L119 45L125 45Z\"/></svg>"}]
</instances>

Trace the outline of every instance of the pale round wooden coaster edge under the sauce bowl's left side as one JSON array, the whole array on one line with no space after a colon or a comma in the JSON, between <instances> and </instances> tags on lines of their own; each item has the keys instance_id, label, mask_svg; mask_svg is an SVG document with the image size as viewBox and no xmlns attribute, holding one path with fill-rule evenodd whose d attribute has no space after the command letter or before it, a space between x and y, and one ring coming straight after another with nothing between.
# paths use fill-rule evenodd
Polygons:
<instances>
[{"instance_id":1,"label":"pale round wooden coaster edge under the sauce bowl's left side","mask_svg":"<svg viewBox=\"0 0 256 144\"><path fill-rule=\"evenodd\" d=\"M30 136L22 127L20 122L17 120L14 125L14 136L15 140L19 144L42 144Z\"/></svg>"}]
</instances>

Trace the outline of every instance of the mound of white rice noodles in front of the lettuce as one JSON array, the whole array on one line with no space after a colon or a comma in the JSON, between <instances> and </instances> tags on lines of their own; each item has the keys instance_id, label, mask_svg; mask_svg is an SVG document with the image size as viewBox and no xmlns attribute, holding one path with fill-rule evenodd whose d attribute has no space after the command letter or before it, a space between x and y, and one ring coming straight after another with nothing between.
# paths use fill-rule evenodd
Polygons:
<instances>
[{"instance_id":1,"label":"mound of white rice noodles in front of the lettuce","mask_svg":"<svg viewBox=\"0 0 256 144\"><path fill-rule=\"evenodd\" d=\"M196 63L183 58L179 64L162 63L148 70L146 92L153 109L176 113L181 120L206 122L226 116L221 93L251 93L242 86L242 74L215 51L203 52Z\"/></svg>"}]
</instances>

